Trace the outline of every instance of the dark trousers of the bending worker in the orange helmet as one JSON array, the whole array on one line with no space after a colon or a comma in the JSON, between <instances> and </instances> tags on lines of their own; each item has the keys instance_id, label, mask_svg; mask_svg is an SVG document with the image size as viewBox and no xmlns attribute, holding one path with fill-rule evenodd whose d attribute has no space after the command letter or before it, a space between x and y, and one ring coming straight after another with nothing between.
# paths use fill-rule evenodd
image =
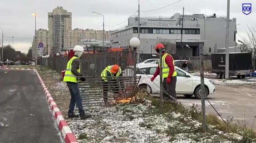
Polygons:
<instances>
[{"instance_id":1,"label":"dark trousers of the bending worker in the orange helmet","mask_svg":"<svg viewBox=\"0 0 256 143\"><path fill-rule=\"evenodd\" d=\"M106 82L102 80L102 86L103 86L103 99L104 101L107 100L107 93L109 91L109 86L112 91L114 91L114 94L118 94L118 82L116 80L112 80L109 82Z\"/></svg>"}]
</instances>

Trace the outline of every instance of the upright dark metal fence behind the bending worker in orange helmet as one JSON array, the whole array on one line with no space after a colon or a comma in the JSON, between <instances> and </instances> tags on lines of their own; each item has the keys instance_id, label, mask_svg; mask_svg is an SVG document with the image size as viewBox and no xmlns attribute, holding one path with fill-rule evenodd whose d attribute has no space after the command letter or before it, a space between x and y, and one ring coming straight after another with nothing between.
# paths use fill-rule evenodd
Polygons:
<instances>
[{"instance_id":1,"label":"upright dark metal fence behind the bending worker in orange helmet","mask_svg":"<svg viewBox=\"0 0 256 143\"><path fill-rule=\"evenodd\" d=\"M86 54L81 58L81 74L83 76L96 77L107 67L118 64L124 71L135 65L136 51L117 51ZM128 72L128 73L127 73ZM135 70L127 70L126 76L134 76Z\"/></svg>"}]
</instances>

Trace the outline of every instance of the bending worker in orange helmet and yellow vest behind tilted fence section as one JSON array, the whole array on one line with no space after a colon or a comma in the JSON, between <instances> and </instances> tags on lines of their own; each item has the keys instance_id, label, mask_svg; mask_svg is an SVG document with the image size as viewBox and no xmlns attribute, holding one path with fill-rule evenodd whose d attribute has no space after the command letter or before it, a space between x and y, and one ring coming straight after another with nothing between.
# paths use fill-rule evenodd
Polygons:
<instances>
[{"instance_id":1,"label":"bending worker in orange helmet and yellow vest behind tilted fence section","mask_svg":"<svg viewBox=\"0 0 256 143\"><path fill-rule=\"evenodd\" d=\"M122 70L118 65L112 65L112 66L107 66L101 73L102 77L102 84L103 84L103 98L104 98L104 103L107 104L107 93L108 93L108 85L114 91L114 94L118 94L120 89L124 89L124 84L121 82L120 89L118 87L118 81L117 77L123 76Z\"/></svg>"}]
</instances>

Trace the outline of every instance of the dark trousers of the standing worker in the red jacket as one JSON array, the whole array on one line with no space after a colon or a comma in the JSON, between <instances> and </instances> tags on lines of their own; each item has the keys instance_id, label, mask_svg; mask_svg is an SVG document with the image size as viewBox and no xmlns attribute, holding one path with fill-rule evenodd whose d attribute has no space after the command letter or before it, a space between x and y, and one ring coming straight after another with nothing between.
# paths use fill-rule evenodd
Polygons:
<instances>
[{"instance_id":1,"label":"dark trousers of the standing worker in the red jacket","mask_svg":"<svg viewBox=\"0 0 256 143\"><path fill-rule=\"evenodd\" d=\"M177 76L173 76L171 77L171 83L167 83L166 82L167 78L164 78L163 80L163 88L165 89L165 91L171 96L173 97L174 99L177 99L177 96L176 96L176 81L177 81ZM166 97L166 98L170 98L169 95L167 95L166 93L163 93L163 95ZM171 98L172 99L172 98Z\"/></svg>"}]
</instances>

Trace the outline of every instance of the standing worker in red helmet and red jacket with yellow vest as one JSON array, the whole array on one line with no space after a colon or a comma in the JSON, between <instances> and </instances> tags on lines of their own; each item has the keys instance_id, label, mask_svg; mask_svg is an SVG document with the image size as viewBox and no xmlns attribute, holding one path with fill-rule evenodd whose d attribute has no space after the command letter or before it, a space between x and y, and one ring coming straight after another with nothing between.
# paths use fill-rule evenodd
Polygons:
<instances>
[{"instance_id":1,"label":"standing worker in red helmet and red jacket with yellow vest","mask_svg":"<svg viewBox=\"0 0 256 143\"><path fill-rule=\"evenodd\" d=\"M176 96L176 81L177 81L177 72L174 66L174 59L170 54L167 54L164 50L164 45L159 43L156 45L156 52L157 55L159 55L160 49L162 49L162 71L163 71L163 87L165 91L173 98L171 98L169 95L164 94L165 99L172 99L172 102L175 102L177 100ZM159 66L156 69L156 72L154 73L154 76L151 78L151 81L154 81L154 79L159 75L160 68Z\"/></svg>"}]
</instances>

